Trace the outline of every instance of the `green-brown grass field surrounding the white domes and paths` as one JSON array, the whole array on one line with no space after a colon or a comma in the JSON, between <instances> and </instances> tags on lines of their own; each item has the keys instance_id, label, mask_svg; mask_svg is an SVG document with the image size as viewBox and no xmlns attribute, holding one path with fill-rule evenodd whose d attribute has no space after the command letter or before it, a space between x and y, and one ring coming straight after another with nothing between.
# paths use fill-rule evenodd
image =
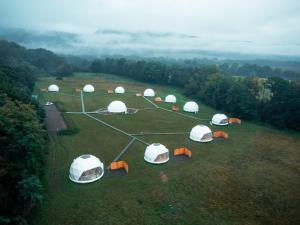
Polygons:
<instances>
[{"instance_id":1,"label":"green-brown grass field surrounding the white domes and paths","mask_svg":"<svg viewBox=\"0 0 300 225\"><path fill-rule=\"evenodd\" d=\"M51 83L58 84L61 92L39 91ZM71 182L68 173L75 157L93 154L107 167L130 141L85 115L65 113L81 111L80 94L74 90L87 83L93 84L96 92L84 95L86 111L107 107L117 99L128 107L153 108L133 115L93 114L129 133L186 132L197 124L210 126L209 120L217 112L200 104L199 113L194 115L199 119L194 119L154 109L134 94L152 87L161 97L175 94L181 108L187 99L175 88L113 75L77 74L63 81L41 79L36 86L39 99L56 102L67 124L79 132L50 138L43 181L45 200L34 210L31 224L300 224L299 133L246 121L240 126L222 127L230 135L228 141L196 143L189 140L188 134L140 136L149 143L166 145L171 152L186 146L193 157L151 165L143 160L146 146L136 141L122 157L129 164L128 174L106 173L101 180L87 185ZM125 95L106 94L107 89L118 85L125 87Z\"/></svg>"}]
</instances>

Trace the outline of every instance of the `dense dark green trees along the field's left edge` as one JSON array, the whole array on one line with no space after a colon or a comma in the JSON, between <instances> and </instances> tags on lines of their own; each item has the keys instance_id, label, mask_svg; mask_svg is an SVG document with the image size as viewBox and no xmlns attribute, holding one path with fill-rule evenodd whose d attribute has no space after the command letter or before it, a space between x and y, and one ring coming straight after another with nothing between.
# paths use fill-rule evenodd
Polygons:
<instances>
[{"instance_id":1,"label":"dense dark green trees along the field's left edge","mask_svg":"<svg viewBox=\"0 0 300 225\"><path fill-rule=\"evenodd\" d=\"M0 224L25 225L43 198L44 112L29 67L0 66L0 77Z\"/></svg>"}]
</instances>

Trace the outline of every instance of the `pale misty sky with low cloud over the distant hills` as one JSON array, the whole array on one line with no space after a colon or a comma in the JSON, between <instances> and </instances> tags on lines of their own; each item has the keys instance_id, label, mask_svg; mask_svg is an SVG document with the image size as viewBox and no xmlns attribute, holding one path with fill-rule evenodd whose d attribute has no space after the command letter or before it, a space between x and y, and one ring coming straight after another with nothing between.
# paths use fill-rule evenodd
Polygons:
<instances>
[{"instance_id":1,"label":"pale misty sky with low cloud over the distant hills","mask_svg":"<svg viewBox=\"0 0 300 225\"><path fill-rule=\"evenodd\" d=\"M0 0L0 15L0 27L80 33L89 47L300 55L299 0ZM129 42L99 29L178 35Z\"/></svg>"}]
</instances>

